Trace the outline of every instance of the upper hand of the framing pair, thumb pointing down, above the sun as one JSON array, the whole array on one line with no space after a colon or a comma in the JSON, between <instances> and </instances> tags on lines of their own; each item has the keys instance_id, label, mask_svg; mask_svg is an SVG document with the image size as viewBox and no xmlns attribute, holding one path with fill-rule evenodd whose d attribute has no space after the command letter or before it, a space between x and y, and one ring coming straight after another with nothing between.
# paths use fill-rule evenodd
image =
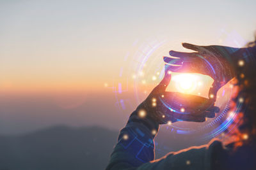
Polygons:
<instances>
[{"instance_id":1,"label":"upper hand of the framing pair, thumb pointing down, above the sun","mask_svg":"<svg viewBox=\"0 0 256 170\"><path fill-rule=\"evenodd\" d=\"M214 79L209 97L216 100L218 90L237 75L237 71L244 67L244 57L250 54L248 48L232 48L228 46L198 46L182 43L182 46L196 52L170 51L173 57L164 57L164 62L176 64L170 70L179 73L201 73ZM179 66L177 66L179 65Z\"/></svg>"}]
</instances>

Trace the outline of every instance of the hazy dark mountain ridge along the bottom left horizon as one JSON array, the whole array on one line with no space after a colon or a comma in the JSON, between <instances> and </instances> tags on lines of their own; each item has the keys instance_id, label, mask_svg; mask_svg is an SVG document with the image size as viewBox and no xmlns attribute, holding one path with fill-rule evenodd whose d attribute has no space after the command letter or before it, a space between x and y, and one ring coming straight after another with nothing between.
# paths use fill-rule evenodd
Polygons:
<instances>
[{"instance_id":1,"label":"hazy dark mountain ridge along the bottom left horizon","mask_svg":"<svg viewBox=\"0 0 256 170\"><path fill-rule=\"evenodd\" d=\"M0 170L105 169L118 131L56 126L0 136Z\"/></svg>"}]
</instances>

